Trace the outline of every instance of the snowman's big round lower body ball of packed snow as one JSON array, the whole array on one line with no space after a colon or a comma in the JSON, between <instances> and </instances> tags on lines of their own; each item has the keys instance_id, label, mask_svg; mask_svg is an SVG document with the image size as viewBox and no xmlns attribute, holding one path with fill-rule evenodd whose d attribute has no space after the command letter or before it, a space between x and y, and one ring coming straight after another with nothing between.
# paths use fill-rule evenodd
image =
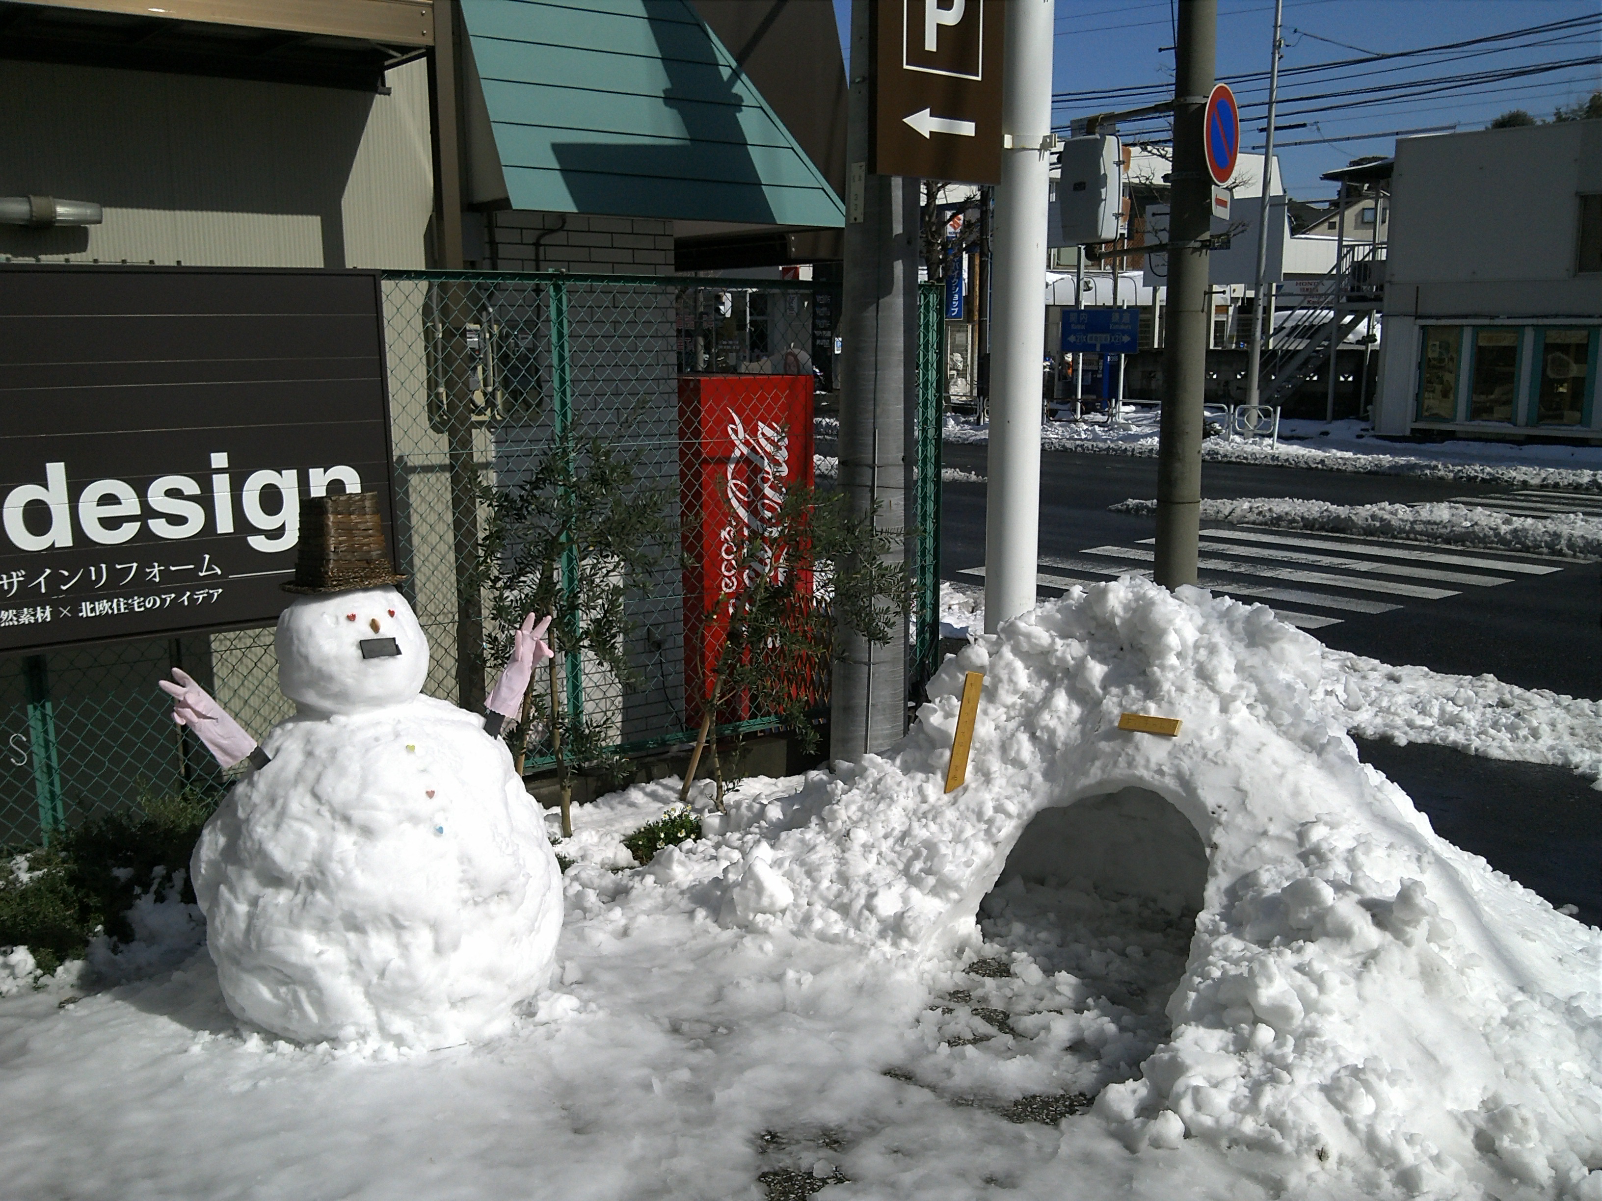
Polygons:
<instances>
[{"instance_id":1,"label":"snowman's big round lower body ball of packed snow","mask_svg":"<svg viewBox=\"0 0 1602 1201\"><path fill-rule=\"evenodd\" d=\"M301 1042L508 1030L549 975L562 894L506 746L428 697L263 745L191 863L229 1009Z\"/></svg>"}]
</instances>

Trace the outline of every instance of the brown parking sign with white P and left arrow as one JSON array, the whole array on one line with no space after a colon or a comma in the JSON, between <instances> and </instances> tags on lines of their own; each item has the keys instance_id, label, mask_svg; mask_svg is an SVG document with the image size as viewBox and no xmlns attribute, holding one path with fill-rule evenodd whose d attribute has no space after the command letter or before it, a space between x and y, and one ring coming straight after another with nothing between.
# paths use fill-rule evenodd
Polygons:
<instances>
[{"instance_id":1,"label":"brown parking sign with white P and left arrow","mask_svg":"<svg viewBox=\"0 0 1602 1201\"><path fill-rule=\"evenodd\" d=\"M1001 179L1003 0L873 0L868 170Z\"/></svg>"}]
</instances>

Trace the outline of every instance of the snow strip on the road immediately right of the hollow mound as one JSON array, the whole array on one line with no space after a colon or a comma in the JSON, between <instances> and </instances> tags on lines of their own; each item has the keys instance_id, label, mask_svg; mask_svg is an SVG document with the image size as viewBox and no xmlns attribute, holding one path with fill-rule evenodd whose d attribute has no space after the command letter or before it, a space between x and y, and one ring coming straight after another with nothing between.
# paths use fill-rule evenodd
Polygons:
<instances>
[{"instance_id":1,"label":"snow strip on the road immediately right of the hollow mound","mask_svg":"<svg viewBox=\"0 0 1602 1201\"><path fill-rule=\"evenodd\" d=\"M1394 668L1344 650L1323 655L1317 700L1360 738L1554 764L1591 777L1602 791L1602 701L1520 689L1490 674Z\"/></svg>"}]
</instances>

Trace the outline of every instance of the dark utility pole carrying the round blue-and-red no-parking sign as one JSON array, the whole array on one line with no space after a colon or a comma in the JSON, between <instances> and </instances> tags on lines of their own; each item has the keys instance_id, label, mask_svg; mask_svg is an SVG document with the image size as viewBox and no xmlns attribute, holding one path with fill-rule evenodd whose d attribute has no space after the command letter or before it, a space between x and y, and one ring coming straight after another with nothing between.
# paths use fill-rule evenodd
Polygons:
<instances>
[{"instance_id":1,"label":"dark utility pole carrying the round blue-and-red no-parking sign","mask_svg":"<svg viewBox=\"0 0 1602 1201\"><path fill-rule=\"evenodd\" d=\"M1218 0L1179 0L1174 48L1174 171L1168 234L1168 346L1157 444L1157 562L1165 588L1197 581L1202 532L1202 404L1211 314L1206 237L1213 176L1203 147L1203 114L1213 91ZM992 436L993 437L993 436Z\"/></svg>"}]
</instances>

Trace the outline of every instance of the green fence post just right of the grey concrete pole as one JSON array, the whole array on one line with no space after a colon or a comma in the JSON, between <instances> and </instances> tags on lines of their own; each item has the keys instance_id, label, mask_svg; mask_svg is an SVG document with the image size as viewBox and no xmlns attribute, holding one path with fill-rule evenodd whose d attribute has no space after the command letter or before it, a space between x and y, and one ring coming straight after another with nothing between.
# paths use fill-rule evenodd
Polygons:
<instances>
[{"instance_id":1,"label":"green fence post just right of the grey concrete pole","mask_svg":"<svg viewBox=\"0 0 1602 1201\"><path fill-rule=\"evenodd\" d=\"M918 285L918 525L913 684L918 690L940 666L940 434L945 383L944 285Z\"/></svg>"}]
</instances>

